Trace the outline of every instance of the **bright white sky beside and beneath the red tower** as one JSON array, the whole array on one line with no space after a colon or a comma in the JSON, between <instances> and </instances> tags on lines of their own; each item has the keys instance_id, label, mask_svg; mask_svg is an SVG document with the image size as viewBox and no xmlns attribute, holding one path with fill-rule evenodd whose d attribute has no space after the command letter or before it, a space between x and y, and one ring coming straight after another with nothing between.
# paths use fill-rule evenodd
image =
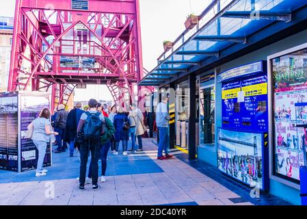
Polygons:
<instances>
[{"instance_id":1,"label":"bright white sky beside and beneath the red tower","mask_svg":"<svg viewBox=\"0 0 307 219\"><path fill-rule=\"evenodd\" d=\"M69 1L69 0L65 0ZM174 41L185 30L189 14L200 14L212 0L139 0L141 17L143 65L146 70L157 66L163 53L164 40ZM15 1L1 1L0 16L14 16ZM112 100L107 86L87 86L75 90L75 101L89 99Z\"/></svg>"}]
</instances>

